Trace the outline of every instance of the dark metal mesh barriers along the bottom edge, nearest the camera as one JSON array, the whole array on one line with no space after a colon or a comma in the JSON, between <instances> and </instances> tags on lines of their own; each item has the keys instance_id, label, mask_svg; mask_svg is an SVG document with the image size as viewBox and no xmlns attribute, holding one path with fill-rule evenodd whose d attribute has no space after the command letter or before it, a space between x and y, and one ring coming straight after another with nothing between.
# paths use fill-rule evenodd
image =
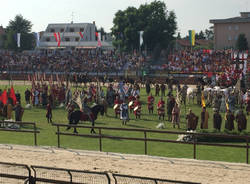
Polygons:
<instances>
[{"instance_id":1,"label":"dark metal mesh barriers along the bottom edge, nearest the camera","mask_svg":"<svg viewBox=\"0 0 250 184\"><path fill-rule=\"evenodd\" d=\"M112 179L112 180L111 180ZM0 183L57 184L198 184L194 182L147 178L64 168L27 166L0 162Z\"/></svg>"}]
</instances>

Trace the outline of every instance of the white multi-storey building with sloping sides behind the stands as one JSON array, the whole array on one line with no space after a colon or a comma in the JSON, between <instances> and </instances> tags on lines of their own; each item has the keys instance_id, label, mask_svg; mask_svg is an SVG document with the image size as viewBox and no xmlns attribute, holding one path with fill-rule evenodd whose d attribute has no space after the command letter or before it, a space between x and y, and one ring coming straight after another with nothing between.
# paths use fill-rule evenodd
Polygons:
<instances>
[{"instance_id":1,"label":"white multi-storey building with sloping sides behind the stands","mask_svg":"<svg viewBox=\"0 0 250 184\"><path fill-rule=\"evenodd\" d=\"M60 42L60 43L59 43ZM101 41L103 48L112 48L112 43ZM49 24L41 35L39 49L96 48L98 41L93 23Z\"/></svg>"}]
</instances>

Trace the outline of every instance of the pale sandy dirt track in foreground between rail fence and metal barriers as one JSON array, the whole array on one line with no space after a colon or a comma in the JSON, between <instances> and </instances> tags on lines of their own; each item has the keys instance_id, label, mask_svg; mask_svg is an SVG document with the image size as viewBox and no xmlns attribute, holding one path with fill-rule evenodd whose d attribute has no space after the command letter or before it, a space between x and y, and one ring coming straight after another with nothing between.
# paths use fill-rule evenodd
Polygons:
<instances>
[{"instance_id":1,"label":"pale sandy dirt track in foreground between rail fence and metal barriers","mask_svg":"<svg viewBox=\"0 0 250 184\"><path fill-rule=\"evenodd\" d=\"M54 147L0 145L0 162L40 165L203 184L250 183L250 165Z\"/></svg>"}]
</instances>

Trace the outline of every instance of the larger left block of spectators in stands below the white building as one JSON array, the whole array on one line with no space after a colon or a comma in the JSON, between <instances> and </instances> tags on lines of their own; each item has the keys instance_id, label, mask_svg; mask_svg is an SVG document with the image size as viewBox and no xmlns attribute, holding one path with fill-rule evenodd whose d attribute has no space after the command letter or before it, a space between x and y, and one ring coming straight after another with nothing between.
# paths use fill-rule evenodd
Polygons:
<instances>
[{"instance_id":1,"label":"larger left block of spectators in stands below the white building","mask_svg":"<svg viewBox=\"0 0 250 184\"><path fill-rule=\"evenodd\" d=\"M77 50L53 53L1 52L1 71L41 72L120 72L137 69L142 57L112 51Z\"/></svg>"}]
</instances>

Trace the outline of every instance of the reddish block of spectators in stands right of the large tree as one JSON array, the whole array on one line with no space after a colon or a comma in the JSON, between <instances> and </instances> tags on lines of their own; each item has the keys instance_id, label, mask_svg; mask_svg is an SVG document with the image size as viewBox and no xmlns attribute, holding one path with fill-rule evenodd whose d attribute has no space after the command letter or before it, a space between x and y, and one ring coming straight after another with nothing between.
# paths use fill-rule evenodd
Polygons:
<instances>
[{"instance_id":1,"label":"reddish block of spectators in stands right of the large tree","mask_svg":"<svg viewBox=\"0 0 250 184\"><path fill-rule=\"evenodd\" d=\"M232 66L235 68L234 64L232 53L229 50L182 50L169 54L166 64L151 66L151 69L184 73L225 72ZM237 70L242 69L243 64L240 64Z\"/></svg>"}]
</instances>

